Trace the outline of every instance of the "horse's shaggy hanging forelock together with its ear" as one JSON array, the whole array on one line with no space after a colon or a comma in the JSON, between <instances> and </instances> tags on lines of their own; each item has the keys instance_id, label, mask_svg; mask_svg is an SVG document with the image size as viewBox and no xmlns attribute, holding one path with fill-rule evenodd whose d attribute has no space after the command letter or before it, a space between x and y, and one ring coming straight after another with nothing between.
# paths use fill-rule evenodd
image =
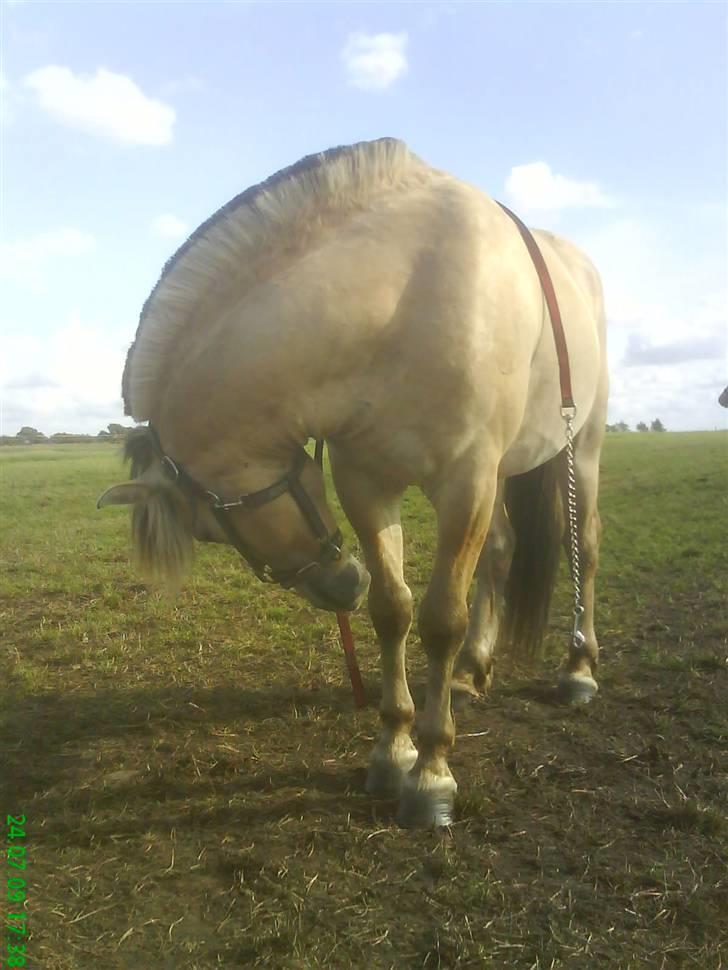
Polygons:
<instances>
[{"instance_id":1,"label":"horse's shaggy hanging forelock together with its ear","mask_svg":"<svg viewBox=\"0 0 728 970\"><path fill-rule=\"evenodd\" d=\"M133 505L134 561L145 579L174 592L192 563L192 510L177 485L162 472L153 431L131 431L124 443L124 458L131 464L132 481L110 488L99 505Z\"/></svg>"}]
</instances>

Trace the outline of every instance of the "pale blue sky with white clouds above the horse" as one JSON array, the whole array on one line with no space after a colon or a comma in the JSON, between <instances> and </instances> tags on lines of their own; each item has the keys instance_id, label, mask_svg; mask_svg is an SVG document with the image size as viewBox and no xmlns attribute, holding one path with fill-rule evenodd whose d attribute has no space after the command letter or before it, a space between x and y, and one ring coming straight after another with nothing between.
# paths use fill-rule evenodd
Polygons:
<instances>
[{"instance_id":1,"label":"pale blue sky with white clouds above the horse","mask_svg":"<svg viewBox=\"0 0 728 970\"><path fill-rule=\"evenodd\" d=\"M0 0L0 433L129 424L166 259L228 199L395 136L581 246L609 420L728 427L728 5Z\"/></svg>"}]
</instances>

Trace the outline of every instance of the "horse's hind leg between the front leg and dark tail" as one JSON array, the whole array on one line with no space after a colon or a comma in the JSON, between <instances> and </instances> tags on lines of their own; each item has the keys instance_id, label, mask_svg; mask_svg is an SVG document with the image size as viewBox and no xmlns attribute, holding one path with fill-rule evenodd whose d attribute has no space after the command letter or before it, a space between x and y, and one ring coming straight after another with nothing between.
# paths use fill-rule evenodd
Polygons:
<instances>
[{"instance_id":1,"label":"horse's hind leg between the front leg and dark tail","mask_svg":"<svg viewBox=\"0 0 728 970\"><path fill-rule=\"evenodd\" d=\"M455 661L453 700L458 695L478 695L493 682L493 663L503 591L513 556L513 529L503 505L500 484L488 537L475 568L475 592L470 604L465 643Z\"/></svg>"}]
</instances>

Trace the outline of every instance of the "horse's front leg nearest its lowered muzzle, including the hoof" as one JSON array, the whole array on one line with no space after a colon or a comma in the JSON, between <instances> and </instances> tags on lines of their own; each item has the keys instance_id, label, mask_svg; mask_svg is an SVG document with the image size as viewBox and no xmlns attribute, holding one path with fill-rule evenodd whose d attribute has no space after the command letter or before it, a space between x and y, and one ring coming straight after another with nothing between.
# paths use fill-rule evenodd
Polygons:
<instances>
[{"instance_id":1,"label":"horse's front leg nearest its lowered muzzle, including the hoof","mask_svg":"<svg viewBox=\"0 0 728 970\"><path fill-rule=\"evenodd\" d=\"M372 752L367 791L396 798L417 759L410 732L415 706L407 686L407 634L412 623L412 594L402 572L400 494L391 494L360 470L336 462L336 491L361 543L371 575L369 615L381 649L382 733Z\"/></svg>"}]
</instances>

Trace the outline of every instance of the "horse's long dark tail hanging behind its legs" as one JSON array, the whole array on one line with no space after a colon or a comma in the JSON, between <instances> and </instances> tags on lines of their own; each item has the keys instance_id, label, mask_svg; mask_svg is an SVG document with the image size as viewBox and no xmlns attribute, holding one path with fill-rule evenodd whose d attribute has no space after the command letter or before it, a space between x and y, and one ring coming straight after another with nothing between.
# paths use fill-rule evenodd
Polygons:
<instances>
[{"instance_id":1,"label":"horse's long dark tail hanging behind its legs","mask_svg":"<svg viewBox=\"0 0 728 970\"><path fill-rule=\"evenodd\" d=\"M532 657L540 648L556 585L563 535L559 472L563 454L506 480L505 506L515 546L505 586L502 645Z\"/></svg>"}]
</instances>

